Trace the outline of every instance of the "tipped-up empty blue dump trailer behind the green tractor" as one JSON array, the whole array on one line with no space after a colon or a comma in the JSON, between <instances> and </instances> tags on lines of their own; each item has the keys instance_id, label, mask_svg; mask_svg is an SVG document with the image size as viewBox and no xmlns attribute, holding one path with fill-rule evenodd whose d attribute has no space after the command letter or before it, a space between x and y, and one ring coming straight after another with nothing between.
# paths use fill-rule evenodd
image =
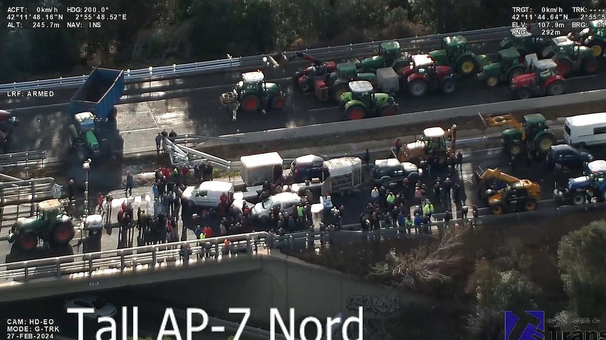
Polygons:
<instances>
[{"instance_id":1,"label":"tipped-up empty blue dump trailer behind the green tractor","mask_svg":"<svg viewBox=\"0 0 606 340\"><path fill-rule=\"evenodd\" d=\"M96 67L72 97L72 115L91 112L99 119L116 117L114 105L124 94L124 71Z\"/></svg>"}]
</instances>

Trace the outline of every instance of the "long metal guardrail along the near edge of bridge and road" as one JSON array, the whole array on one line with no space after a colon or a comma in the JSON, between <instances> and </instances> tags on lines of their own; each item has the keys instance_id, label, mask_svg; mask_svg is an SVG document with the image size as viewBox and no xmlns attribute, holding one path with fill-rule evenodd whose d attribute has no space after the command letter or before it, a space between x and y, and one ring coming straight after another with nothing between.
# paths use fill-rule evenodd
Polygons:
<instances>
[{"instance_id":1,"label":"long metal guardrail along the near edge of bridge and road","mask_svg":"<svg viewBox=\"0 0 606 340\"><path fill-rule=\"evenodd\" d=\"M541 206L551 206L554 200L539 202ZM484 215L478 218L479 223L487 224L495 221L517 220L545 215L561 215L571 211L604 209L606 203L582 204L578 206L556 206L555 208L540 209L530 212L519 212L504 215ZM484 212L484 209L480 209ZM436 214L436 218L440 215ZM471 220L471 218L468 218ZM467 221L468 221L467 220ZM462 222L462 219L452 220ZM438 232L442 232L444 221L431 223ZM432 228L433 230L434 228ZM286 235L274 235L269 232L254 232L250 234L229 235L226 237L207 238L205 240L181 241L175 243L156 244L153 246L132 247L127 249L105 250L102 252L83 253L40 260L21 261L0 264L0 282L18 281L29 283L44 278L74 279L88 278L101 275L104 270L135 273L143 270L159 270L160 263L165 266L188 266L200 261L221 261L225 257L239 255L256 255L263 249L306 249L315 247L317 241L321 244L331 242L351 242L365 239L380 239L390 237L405 237L410 235L405 229L388 228L372 232L341 230L336 232L297 232ZM355 238L352 238L355 237ZM360 238L362 237L362 238ZM224 241L229 240L226 246ZM139 268L139 269L138 269ZM84 275L81 275L84 273ZM70 276L72 275L72 276Z\"/></svg>"}]
</instances>

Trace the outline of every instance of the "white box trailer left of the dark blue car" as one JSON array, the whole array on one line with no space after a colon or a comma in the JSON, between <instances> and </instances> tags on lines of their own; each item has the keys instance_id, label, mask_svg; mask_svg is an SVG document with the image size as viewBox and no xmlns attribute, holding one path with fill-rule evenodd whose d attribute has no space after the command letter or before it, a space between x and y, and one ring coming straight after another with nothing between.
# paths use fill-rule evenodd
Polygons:
<instances>
[{"instance_id":1,"label":"white box trailer left of the dark blue car","mask_svg":"<svg viewBox=\"0 0 606 340\"><path fill-rule=\"evenodd\" d=\"M242 162L242 180L247 186L261 185L264 181L273 182L282 176L284 160L278 152L267 152L240 157Z\"/></svg>"}]
</instances>

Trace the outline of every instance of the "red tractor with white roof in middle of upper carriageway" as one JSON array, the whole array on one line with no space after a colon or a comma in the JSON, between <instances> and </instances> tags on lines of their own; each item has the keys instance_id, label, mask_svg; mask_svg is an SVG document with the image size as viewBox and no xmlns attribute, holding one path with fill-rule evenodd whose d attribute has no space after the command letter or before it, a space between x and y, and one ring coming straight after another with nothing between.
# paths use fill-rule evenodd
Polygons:
<instances>
[{"instance_id":1,"label":"red tractor with white roof in middle of upper carriageway","mask_svg":"<svg viewBox=\"0 0 606 340\"><path fill-rule=\"evenodd\" d=\"M402 79L413 97L425 96L427 91L441 90L445 94L456 91L453 70L448 65L436 65L428 54L411 56L408 67L402 70Z\"/></svg>"}]
</instances>

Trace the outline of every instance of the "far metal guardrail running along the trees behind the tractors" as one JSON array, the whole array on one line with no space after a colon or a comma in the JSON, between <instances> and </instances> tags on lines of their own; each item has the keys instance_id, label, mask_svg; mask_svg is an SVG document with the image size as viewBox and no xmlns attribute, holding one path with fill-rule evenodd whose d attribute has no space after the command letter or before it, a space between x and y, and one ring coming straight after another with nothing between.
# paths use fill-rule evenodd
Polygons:
<instances>
[{"instance_id":1,"label":"far metal guardrail running along the trees behind the tractors","mask_svg":"<svg viewBox=\"0 0 606 340\"><path fill-rule=\"evenodd\" d=\"M561 21L570 23L572 20ZM395 39L405 51L418 51L422 48L439 47L441 39L453 34L465 36L470 43L494 41L502 39L509 34L510 27L486 28L483 30L460 31L445 34L433 34L413 38ZM359 44L341 45L336 47L305 49L306 53L312 54L318 59L358 57L375 51L379 44L384 41L362 42ZM192 76L201 73L217 73L222 71L238 70L239 68L265 67L264 55L238 57L232 59L209 60L205 62L194 62L181 65L166 65L161 67L141 68L138 70L125 70L126 83L148 82L153 80L174 79L182 76ZM41 88L77 87L85 82L87 75L75 77L59 77L57 79L36 80L20 83L4 83L0 85L0 91L27 91Z\"/></svg>"}]
</instances>

